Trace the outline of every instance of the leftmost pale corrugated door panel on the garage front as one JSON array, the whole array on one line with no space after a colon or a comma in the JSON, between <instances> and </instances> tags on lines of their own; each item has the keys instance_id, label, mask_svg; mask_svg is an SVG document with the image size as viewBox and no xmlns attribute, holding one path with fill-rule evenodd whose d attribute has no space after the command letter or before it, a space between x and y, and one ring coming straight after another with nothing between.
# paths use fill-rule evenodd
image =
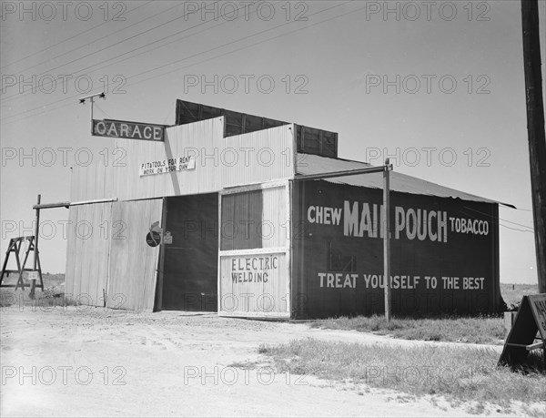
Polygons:
<instances>
[{"instance_id":1,"label":"leftmost pale corrugated door panel on the garage front","mask_svg":"<svg viewBox=\"0 0 546 418\"><path fill-rule=\"evenodd\" d=\"M70 207L65 292L84 305L105 304L111 213L112 203Z\"/></svg>"}]
</instances>

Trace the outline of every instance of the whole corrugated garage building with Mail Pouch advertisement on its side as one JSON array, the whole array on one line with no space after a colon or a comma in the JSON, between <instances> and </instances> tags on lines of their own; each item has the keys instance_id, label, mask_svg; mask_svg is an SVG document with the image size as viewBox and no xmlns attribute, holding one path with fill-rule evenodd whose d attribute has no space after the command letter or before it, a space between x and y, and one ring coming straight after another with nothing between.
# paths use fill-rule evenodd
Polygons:
<instances>
[{"instance_id":1,"label":"whole corrugated garage building with Mail Pouch advertisement on its side","mask_svg":"<svg viewBox=\"0 0 546 418\"><path fill-rule=\"evenodd\" d=\"M78 301L258 318L384 311L381 173L297 181L369 167L338 158L337 134L181 100L164 134L94 129L140 137L116 139L126 164L73 169L71 201L98 200L69 211L85 225L67 243ZM499 202L396 171L390 190L393 313L498 311Z\"/></svg>"}]
</instances>

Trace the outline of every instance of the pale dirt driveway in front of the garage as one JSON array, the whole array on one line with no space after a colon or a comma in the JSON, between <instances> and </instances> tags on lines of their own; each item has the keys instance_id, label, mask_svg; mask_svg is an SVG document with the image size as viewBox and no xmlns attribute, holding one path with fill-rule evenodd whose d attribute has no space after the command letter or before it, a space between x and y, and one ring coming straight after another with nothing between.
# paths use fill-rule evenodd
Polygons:
<instances>
[{"instance_id":1,"label":"pale dirt driveway in front of the garage","mask_svg":"<svg viewBox=\"0 0 546 418\"><path fill-rule=\"evenodd\" d=\"M21 311L23 310L23 311ZM87 307L3 308L2 416L461 416L464 408L275 374L261 343L416 344L304 323ZM245 368L247 362L258 362ZM493 413L494 414L494 413Z\"/></svg>"}]
</instances>

